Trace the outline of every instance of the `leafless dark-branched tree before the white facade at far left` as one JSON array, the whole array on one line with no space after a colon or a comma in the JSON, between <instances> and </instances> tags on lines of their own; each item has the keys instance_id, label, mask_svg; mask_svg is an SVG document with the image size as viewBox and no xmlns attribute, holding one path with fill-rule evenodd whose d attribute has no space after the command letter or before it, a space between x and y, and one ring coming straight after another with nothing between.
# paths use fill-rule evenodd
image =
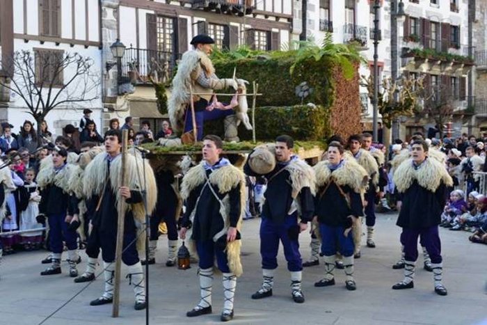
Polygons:
<instances>
[{"instance_id":1,"label":"leafless dark-branched tree before the white facade at far left","mask_svg":"<svg viewBox=\"0 0 487 325\"><path fill-rule=\"evenodd\" d=\"M78 53L15 51L8 60L10 77L0 86L18 95L40 125L56 108L74 109L99 98L100 77L93 58Z\"/></svg>"}]
</instances>

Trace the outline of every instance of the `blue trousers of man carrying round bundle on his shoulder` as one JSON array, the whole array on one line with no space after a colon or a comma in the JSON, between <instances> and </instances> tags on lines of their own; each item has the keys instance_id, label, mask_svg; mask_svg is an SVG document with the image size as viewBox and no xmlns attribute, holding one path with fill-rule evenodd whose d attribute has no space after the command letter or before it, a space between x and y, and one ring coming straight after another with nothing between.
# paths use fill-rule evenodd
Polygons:
<instances>
[{"instance_id":1,"label":"blue trousers of man carrying round bundle on his shoulder","mask_svg":"<svg viewBox=\"0 0 487 325\"><path fill-rule=\"evenodd\" d=\"M284 223L275 223L266 216L262 216L260 223L260 255L262 269L276 269L278 267L279 241L284 247L284 256L289 271L302 271L303 260L299 253L299 241L289 238L289 229L298 227L298 217L294 213L287 216Z\"/></svg>"}]
</instances>

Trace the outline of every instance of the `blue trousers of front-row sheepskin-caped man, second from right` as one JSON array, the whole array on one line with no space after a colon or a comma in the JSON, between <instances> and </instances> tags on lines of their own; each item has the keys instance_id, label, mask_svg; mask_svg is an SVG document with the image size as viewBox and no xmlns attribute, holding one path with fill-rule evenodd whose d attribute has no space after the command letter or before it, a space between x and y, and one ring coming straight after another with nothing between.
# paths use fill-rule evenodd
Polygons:
<instances>
[{"instance_id":1,"label":"blue trousers of front-row sheepskin-caped man, second from right","mask_svg":"<svg viewBox=\"0 0 487 325\"><path fill-rule=\"evenodd\" d=\"M343 232L345 228L342 226L332 227L330 225L325 225L324 223L319 224L319 232L321 234L321 253L325 256L332 256L340 251L344 257L349 257L353 255L353 250L355 245L353 244L352 232L349 235L344 236ZM339 249L337 250L337 244Z\"/></svg>"}]
</instances>

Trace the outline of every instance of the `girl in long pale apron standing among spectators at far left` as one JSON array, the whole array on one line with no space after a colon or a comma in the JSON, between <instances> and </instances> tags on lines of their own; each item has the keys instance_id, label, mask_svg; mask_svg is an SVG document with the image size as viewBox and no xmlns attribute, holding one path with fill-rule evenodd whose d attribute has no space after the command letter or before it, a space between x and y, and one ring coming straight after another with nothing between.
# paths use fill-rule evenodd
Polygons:
<instances>
[{"instance_id":1,"label":"girl in long pale apron standing among spectators at far left","mask_svg":"<svg viewBox=\"0 0 487 325\"><path fill-rule=\"evenodd\" d=\"M42 228L42 224L35 220L39 215L40 195L37 184L34 182L35 171L33 168L27 169L25 173L25 183L22 188L23 195L19 203L20 207L20 230L31 230ZM22 244L26 251L40 248L42 244L42 230L36 232L24 232L22 234Z\"/></svg>"}]
</instances>

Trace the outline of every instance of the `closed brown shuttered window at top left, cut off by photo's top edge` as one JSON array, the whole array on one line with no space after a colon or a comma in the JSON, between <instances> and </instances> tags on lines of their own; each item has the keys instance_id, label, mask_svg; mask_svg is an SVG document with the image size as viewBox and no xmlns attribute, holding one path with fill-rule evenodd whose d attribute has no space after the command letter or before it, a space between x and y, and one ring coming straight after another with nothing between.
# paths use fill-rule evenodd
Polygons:
<instances>
[{"instance_id":1,"label":"closed brown shuttered window at top left, cut off by photo's top edge","mask_svg":"<svg viewBox=\"0 0 487 325\"><path fill-rule=\"evenodd\" d=\"M39 0L39 33L61 37L61 0Z\"/></svg>"}]
</instances>

